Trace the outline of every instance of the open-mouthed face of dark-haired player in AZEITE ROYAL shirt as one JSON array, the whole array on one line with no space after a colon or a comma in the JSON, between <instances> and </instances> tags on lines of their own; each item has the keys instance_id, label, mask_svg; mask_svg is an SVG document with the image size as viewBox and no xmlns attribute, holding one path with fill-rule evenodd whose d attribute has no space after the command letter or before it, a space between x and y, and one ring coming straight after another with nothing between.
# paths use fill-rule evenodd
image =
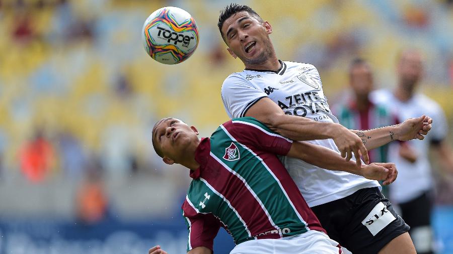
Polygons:
<instances>
[{"instance_id":1,"label":"open-mouthed face of dark-haired player in AZEITE ROYAL shirt","mask_svg":"<svg viewBox=\"0 0 453 254\"><path fill-rule=\"evenodd\" d=\"M222 26L228 51L246 65L267 60L272 52L269 34L272 27L267 21L260 23L248 12L239 12L226 19Z\"/></svg>"}]
</instances>

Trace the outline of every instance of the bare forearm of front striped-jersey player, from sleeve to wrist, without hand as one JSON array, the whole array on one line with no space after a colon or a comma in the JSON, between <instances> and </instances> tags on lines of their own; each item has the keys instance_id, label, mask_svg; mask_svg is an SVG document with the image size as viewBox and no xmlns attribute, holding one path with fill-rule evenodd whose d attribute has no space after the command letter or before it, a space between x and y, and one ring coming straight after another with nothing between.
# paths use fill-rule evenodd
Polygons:
<instances>
[{"instance_id":1,"label":"bare forearm of front striped-jersey player, from sleeve to wrist, without hand","mask_svg":"<svg viewBox=\"0 0 453 254\"><path fill-rule=\"evenodd\" d=\"M361 175L361 167L357 166L354 161L346 161L339 153L308 142L294 141L287 156L303 160L323 169Z\"/></svg>"}]
</instances>

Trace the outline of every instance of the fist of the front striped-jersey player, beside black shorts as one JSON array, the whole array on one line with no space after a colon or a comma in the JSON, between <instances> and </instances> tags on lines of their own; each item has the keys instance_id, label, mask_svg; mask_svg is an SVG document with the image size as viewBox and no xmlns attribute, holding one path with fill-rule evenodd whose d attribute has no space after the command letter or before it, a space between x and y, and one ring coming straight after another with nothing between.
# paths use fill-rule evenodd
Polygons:
<instances>
[{"instance_id":1,"label":"fist of the front striped-jersey player, beside black shorts","mask_svg":"<svg viewBox=\"0 0 453 254\"><path fill-rule=\"evenodd\" d=\"M393 163L371 163L361 167L360 175L370 180L384 180L384 185L395 181L398 170Z\"/></svg>"}]
</instances>

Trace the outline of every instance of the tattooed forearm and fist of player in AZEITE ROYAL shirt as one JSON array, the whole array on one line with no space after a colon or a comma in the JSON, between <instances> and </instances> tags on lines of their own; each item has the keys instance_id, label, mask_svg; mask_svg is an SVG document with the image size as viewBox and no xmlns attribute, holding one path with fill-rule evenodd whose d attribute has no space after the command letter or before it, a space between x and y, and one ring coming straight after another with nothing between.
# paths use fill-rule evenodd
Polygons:
<instances>
[{"instance_id":1,"label":"tattooed forearm and fist of player in AZEITE ROYAL shirt","mask_svg":"<svg viewBox=\"0 0 453 254\"><path fill-rule=\"evenodd\" d=\"M396 125L368 131L351 130L351 132L355 133L362 140L366 149L370 150L384 146L394 140L423 140L424 135L431 130L431 123L431 117L422 115L418 118L409 118Z\"/></svg>"}]
</instances>

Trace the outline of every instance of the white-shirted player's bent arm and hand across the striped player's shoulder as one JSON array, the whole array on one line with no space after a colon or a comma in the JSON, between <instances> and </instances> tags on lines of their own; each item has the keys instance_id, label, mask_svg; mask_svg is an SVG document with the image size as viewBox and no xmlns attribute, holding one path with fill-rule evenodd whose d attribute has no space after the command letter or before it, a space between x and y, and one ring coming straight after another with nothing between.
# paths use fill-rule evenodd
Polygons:
<instances>
[{"instance_id":1,"label":"white-shirted player's bent arm and hand across the striped player's shoulder","mask_svg":"<svg viewBox=\"0 0 453 254\"><path fill-rule=\"evenodd\" d=\"M362 140L339 123L319 122L306 117L287 115L270 98L264 97L251 106L245 116L255 117L269 129L280 135L297 141L333 139L346 161L354 153L357 165L363 161L369 163L368 153Z\"/></svg>"}]
</instances>

